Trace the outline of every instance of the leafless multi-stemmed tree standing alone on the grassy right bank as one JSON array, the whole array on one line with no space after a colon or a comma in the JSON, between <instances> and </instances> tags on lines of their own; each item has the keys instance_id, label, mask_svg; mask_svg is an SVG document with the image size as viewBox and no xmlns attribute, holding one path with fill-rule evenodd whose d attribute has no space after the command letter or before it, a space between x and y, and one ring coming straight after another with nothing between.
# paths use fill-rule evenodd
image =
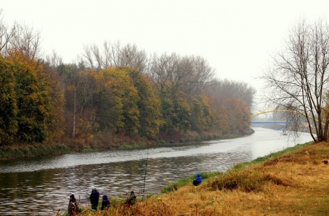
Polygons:
<instances>
[{"instance_id":1,"label":"leafless multi-stemmed tree standing alone on the grassy right bank","mask_svg":"<svg viewBox=\"0 0 329 216\"><path fill-rule=\"evenodd\" d=\"M307 122L314 141L326 141L329 124L326 109L329 27L321 19L311 24L302 20L291 29L283 47L273 56L273 64L263 76L267 83L267 102L289 110L292 113L290 120L295 124Z\"/></svg>"}]
</instances>

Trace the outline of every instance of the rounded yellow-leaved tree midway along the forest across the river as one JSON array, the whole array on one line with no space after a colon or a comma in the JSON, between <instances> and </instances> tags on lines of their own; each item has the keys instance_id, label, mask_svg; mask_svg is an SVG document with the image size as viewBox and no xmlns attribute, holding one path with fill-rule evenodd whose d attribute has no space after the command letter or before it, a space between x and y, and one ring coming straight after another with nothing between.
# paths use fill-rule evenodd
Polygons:
<instances>
[{"instance_id":1,"label":"rounded yellow-leaved tree midway along the forest across the river","mask_svg":"<svg viewBox=\"0 0 329 216\"><path fill-rule=\"evenodd\" d=\"M138 91L127 71L106 68L97 75L97 122L100 130L133 135L140 127Z\"/></svg>"}]
</instances>

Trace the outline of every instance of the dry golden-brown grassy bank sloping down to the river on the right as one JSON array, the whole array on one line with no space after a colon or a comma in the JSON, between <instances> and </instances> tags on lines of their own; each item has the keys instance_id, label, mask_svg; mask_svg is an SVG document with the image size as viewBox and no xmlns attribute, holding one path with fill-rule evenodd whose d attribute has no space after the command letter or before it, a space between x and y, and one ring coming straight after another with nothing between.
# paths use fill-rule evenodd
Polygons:
<instances>
[{"instance_id":1,"label":"dry golden-brown grassy bank sloping down to the river on the right","mask_svg":"<svg viewBox=\"0 0 329 216\"><path fill-rule=\"evenodd\" d=\"M328 215L329 144L297 145L227 172L169 183L134 206L112 200L107 211L80 215Z\"/></svg>"}]
</instances>

